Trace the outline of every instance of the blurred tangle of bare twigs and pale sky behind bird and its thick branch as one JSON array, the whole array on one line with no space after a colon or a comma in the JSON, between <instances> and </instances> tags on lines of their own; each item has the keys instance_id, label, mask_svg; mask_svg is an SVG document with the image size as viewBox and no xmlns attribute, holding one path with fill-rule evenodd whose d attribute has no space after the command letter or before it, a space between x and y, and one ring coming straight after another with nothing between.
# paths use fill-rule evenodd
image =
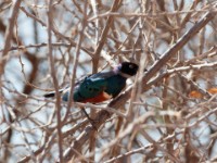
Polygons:
<instances>
[{"instance_id":1,"label":"blurred tangle of bare twigs and pale sky behind bird and its thick branch","mask_svg":"<svg viewBox=\"0 0 217 163\"><path fill-rule=\"evenodd\" d=\"M215 5L207 0L1 1L1 162L60 159L55 98L43 98L54 90L52 66L59 88L123 61L149 71L207 12L216 12ZM71 161L217 161L216 21L204 25L162 65L146 91L141 83L135 97L116 109L129 118L113 114L91 135L94 141L88 138ZM63 156L89 125L78 106L66 114L66 105L61 103L66 120L61 128ZM87 111L91 116L99 112L88 106ZM150 112L155 116L139 125L132 123ZM133 128L126 133L130 125Z\"/></svg>"}]
</instances>

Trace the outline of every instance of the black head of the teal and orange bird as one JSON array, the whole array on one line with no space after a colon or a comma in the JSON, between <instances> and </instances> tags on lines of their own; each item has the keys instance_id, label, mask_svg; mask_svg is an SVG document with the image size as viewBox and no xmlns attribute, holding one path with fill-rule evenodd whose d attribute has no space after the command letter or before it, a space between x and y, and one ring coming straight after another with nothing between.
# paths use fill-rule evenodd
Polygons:
<instances>
[{"instance_id":1,"label":"black head of the teal and orange bird","mask_svg":"<svg viewBox=\"0 0 217 163\"><path fill-rule=\"evenodd\" d=\"M132 62L123 62L119 66L118 66L118 71L123 74L129 75L129 76L133 76L137 74L139 66L136 63Z\"/></svg>"}]
</instances>

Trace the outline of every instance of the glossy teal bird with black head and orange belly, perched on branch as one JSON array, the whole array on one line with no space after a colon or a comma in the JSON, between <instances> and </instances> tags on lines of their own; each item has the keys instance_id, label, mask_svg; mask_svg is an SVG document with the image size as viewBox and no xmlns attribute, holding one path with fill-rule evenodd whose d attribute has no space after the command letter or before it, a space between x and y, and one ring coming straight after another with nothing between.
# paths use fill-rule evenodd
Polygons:
<instances>
[{"instance_id":1,"label":"glossy teal bird with black head and orange belly, perched on branch","mask_svg":"<svg viewBox=\"0 0 217 163\"><path fill-rule=\"evenodd\" d=\"M138 72L138 64L132 62L122 62L114 70L108 72L100 72L84 79L78 80L75 84L73 91L73 101L81 103L101 103L117 97L122 90L126 87L127 78L135 76ZM68 101L71 87L61 89L62 100ZM46 98L54 97L55 92L48 92ZM89 117L85 109L82 109L87 118L93 125L93 120ZM94 127L95 128L95 127Z\"/></svg>"}]
</instances>

